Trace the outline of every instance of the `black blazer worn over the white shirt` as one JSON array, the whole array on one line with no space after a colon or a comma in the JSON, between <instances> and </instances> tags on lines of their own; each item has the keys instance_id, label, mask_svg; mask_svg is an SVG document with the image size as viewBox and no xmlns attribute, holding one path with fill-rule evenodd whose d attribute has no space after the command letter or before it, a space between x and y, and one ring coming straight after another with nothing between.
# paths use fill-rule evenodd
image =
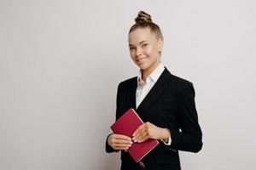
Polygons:
<instances>
[{"instance_id":1,"label":"black blazer worn over the white shirt","mask_svg":"<svg viewBox=\"0 0 256 170\"><path fill-rule=\"evenodd\" d=\"M172 144L160 144L143 157L147 170L180 169L177 150L198 152L201 150L201 127L195 108L193 84L172 75L166 68L148 95L136 109L137 77L120 82L117 93L116 119L130 108L137 111L143 122L166 127L171 132ZM106 141L106 151L113 148ZM129 153L121 151L121 170L141 169Z\"/></svg>"}]
</instances>

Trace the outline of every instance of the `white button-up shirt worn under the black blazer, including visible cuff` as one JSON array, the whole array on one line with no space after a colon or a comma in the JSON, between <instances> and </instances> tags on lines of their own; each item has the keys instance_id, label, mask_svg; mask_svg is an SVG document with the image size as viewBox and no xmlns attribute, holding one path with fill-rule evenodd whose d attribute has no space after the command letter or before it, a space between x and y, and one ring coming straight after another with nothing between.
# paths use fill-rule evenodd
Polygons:
<instances>
[{"instance_id":1,"label":"white button-up shirt worn under the black blazer, including visible cuff","mask_svg":"<svg viewBox=\"0 0 256 170\"><path fill-rule=\"evenodd\" d=\"M152 71L151 74L147 77L146 82L143 82L142 71L139 71L139 74L137 76L136 108L142 103L143 99L147 96L151 88L153 88L155 82L157 82L164 70L164 65L160 63L160 65L158 65L154 69L154 71ZM166 143L165 141L163 142L166 145L171 145L171 135L169 136L168 143Z\"/></svg>"}]
</instances>

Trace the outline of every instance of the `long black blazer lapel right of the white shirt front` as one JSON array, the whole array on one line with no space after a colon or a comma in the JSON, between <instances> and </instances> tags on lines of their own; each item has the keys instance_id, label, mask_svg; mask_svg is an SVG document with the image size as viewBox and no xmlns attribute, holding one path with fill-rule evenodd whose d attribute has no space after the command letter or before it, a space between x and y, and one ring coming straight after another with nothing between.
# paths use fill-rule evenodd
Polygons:
<instances>
[{"instance_id":1,"label":"long black blazer lapel right of the white shirt front","mask_svg":"<svg viewBox=\"0 0 256 170\"><path fill-rule=\"evenodd\" d=\"M150 89L147 96L143 99L142 103L138 105L137 112L143 113L143 111L148 107L148 105L151 105L155 99L157 99L160 94L162 94L168 84L170 72L165 68L165 70L160 75L157 82L155 82L153 88ZM136 93L136 89L135 89ZM136 95L134 96L134 99L136 100Z\"/></svg>"}]
</instances>

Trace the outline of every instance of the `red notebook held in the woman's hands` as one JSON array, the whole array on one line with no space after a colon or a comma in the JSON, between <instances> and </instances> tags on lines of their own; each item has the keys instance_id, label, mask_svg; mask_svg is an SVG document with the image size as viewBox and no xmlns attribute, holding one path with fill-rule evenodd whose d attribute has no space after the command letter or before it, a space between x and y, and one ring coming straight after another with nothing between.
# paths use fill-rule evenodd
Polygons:
<instances>
[{"instance_id":1,"label":"red notebook held in the woman's hands","mask_svg":"<svg viewBox=\"0 0 256 170\"><path fill-rule=\"evenodd\" d=\"M123 116L120 116L110 128L113 130L113 133L123 134L132 139L132 133L142 124L143 121L137 115L136 111L129 109ZM131 144L131 147L127 151L130 153L133 160L138 162L141 161L150 150L153 150L157 144L159 144L159 142L156 139L148 139L143 143Z\"/></svg>"}]
</instances>

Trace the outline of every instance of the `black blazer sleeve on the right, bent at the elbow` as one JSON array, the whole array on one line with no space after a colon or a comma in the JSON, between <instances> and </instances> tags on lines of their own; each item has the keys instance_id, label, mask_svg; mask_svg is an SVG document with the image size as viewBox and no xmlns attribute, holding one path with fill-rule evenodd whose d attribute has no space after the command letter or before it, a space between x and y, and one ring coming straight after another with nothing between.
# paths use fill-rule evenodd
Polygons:
<instances>
[{"instance_id":1,"label":"black blazer sleeve on the right, bent at the elbow","mask_svg":"<svg viewBox=\"0 0 256 170\"><path fill-rule=\"evenodd\" d=\"M179 130L172 130L172 150L184 150L198 152L202 147L201 127L198 123L197 111L195 108L195 90L189 82L181 92L178 93L177 120Z\"/></svg>"}]
</instances>

